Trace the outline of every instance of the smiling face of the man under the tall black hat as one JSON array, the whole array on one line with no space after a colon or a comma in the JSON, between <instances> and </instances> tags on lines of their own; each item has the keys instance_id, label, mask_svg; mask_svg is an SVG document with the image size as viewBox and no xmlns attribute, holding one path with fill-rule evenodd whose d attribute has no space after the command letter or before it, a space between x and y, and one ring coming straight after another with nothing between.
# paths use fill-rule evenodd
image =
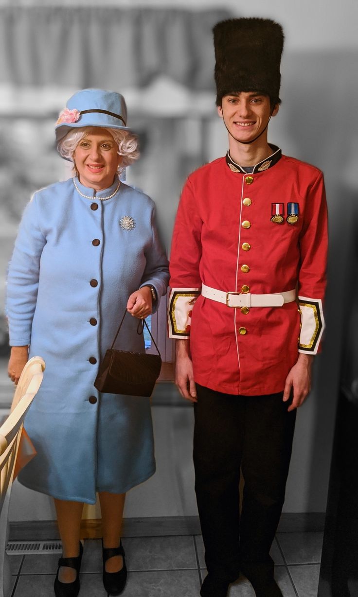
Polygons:
<instances>
[{"instance_id":1,"label":"smiling face of the man under the tall black hat","mask_svg":"<svg viewBox=\"0 0 358 597\"><path fill-rule=\"evenodd\" d=\"M255 139L278 110L278 105L271 107L270 97L251 91L224 96L218 106L218 114L224 119L228 132L241 142Z\"/></svg>"}]
</instances>

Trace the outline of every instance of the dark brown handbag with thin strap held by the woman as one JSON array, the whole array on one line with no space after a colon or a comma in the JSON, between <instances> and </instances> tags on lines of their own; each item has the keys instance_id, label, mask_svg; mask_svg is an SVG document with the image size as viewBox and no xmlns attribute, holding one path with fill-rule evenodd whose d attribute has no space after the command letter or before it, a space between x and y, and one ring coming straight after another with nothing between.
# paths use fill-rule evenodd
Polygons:
<instances>
[{"instance_id":1,"label":"dark brown handbag with thin strap held by the woman","mask_svg":"<svg viewBox=\"0 0 358 597\"><path fill-rule=\"evenodd\" d=\"M109 394L151 396L155 381L157 381L160 374L161 356L145 319L140 319L137 334L143 334L144 326L146 326L152 342L158 350L157 355L114 349L114 343L120 333L126 313L127 309L124 312L112 346L106 350L103 361L99 365L94 387L99 392Z\"/></svg>"}]
</instances>

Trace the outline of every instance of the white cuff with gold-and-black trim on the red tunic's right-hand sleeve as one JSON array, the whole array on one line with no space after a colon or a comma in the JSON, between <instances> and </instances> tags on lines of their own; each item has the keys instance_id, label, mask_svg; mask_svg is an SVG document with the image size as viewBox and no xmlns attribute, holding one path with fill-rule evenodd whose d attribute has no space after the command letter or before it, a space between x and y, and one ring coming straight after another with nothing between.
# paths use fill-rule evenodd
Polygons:
<instances>
[{"instance_id":1,"label":"white cuff with gold-and-black trim on the red tunic's right-hand sleeve","mask_svg":"<svg viewBox=\"0 0 358 597\"><path fill-rule=\"evenodd\" d=\"M301 311L301 333L298 352L316 355L325 329L322 300L320 298L298 297Z\"/></svg>"}]
</instances>

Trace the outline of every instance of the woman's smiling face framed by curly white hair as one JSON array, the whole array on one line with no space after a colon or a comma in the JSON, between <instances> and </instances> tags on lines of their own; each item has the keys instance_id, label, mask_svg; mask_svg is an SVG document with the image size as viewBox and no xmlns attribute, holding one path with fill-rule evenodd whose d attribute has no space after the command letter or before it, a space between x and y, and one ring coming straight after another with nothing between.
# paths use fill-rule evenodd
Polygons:
<instances>
[{"instance_id":1,"label":"woman's smiling face framed by curly white hair","mask_svg":"<svg viewBox=\"0 0 358 597\"><path fill-rule=\"evenodd\" d=\"M118 145L105 128L88 128L74 152L79 182L95 190L110 187L122 159L117 152Z\"/></svg>"}]
</instances>

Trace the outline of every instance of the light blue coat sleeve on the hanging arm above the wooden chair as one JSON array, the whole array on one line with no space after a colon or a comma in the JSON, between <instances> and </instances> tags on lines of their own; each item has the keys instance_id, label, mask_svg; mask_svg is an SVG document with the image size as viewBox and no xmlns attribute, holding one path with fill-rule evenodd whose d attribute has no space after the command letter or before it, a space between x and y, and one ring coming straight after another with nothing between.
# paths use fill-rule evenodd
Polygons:
<instances>
[{"instance_id":1,"label":"light blue coat sleeve on the hanging arm above the wooden chair","mask_svg":"<svg viewBox=\"0 0 358 597\"><path fill-rule=\"evenodd\" d=\"M30 344L39 268L46 240L39 227L36 194L23 213L13 256L8 267L6 313L10 346Z\"/></svg>"}]
</instances>

